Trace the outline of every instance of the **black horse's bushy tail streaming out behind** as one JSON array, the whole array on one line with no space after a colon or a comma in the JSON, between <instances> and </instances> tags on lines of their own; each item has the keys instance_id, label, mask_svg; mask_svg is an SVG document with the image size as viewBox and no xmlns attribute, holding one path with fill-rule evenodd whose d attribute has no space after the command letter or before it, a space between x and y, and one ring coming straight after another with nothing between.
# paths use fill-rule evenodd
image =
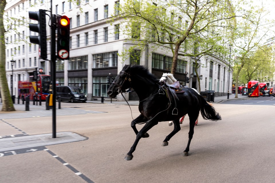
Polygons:
<instances>
[{"instance_id":1,"label":"black horse's bushy tail streaming out behind","mask_svg":"<svg viewBox=\"0 0 275 183\"><path fill-rule=\"evenodd\" d=\"M201 96L201 116L205 120L218 121L221 120L220 114L215 110L213 106L208 104L203 96Z\"/></svg>"}]
</instances>

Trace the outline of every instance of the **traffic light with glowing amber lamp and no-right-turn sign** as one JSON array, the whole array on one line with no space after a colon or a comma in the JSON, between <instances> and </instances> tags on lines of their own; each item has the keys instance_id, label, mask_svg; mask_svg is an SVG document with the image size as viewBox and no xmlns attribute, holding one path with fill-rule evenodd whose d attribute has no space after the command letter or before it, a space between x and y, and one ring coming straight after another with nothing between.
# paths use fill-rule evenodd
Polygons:
<instances>
[{"instance_id":1,"label":"traffic light with glowing amber lamp and no-right-turn sign","mask_svg":"<svg viewBox=\"0 0 275 183\"><path fill-rule=\"evenodd\" d=\"M57 57L69 59L70 53L70 19L67 16L57 17Z\"/></svg>"}]
</instances>

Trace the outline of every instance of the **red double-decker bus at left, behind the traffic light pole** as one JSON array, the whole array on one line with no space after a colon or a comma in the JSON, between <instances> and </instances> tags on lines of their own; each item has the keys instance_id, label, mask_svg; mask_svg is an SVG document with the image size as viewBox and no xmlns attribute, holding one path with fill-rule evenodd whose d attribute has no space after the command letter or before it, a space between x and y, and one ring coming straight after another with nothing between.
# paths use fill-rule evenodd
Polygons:
<instances>
[{"instance_id":1,"label":"red double-decker bus at left, behind the traffic light pole","mask_svg":"<svg viewBox=\"0 0 275 183\"><path fill-rule=\"evenodd\" d=\"M33 100L33 96L37 94L41 97L41 100L46 100L46 96L49 94L50 88L50 75L38 75L37 81L34 81L34 76L30 76L29 81L18 81L18 95L26 97L30 95L30 100ZM37 83L37 85L36 85Z\"/></svg>"}]
</instances>

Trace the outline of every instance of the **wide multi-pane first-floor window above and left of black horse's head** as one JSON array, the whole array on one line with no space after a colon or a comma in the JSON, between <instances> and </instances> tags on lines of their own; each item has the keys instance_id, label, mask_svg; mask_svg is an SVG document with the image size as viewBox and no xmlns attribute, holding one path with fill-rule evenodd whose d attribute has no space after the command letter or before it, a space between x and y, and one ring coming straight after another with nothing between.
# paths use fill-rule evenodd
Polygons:
<instances>
[{"instance_id":1,"label":"wide multi-pane first-floor window above and left of black horse's head","mask_svg":"<svg viewBox=\"0 0 275 183\"><path fill-rule=\"evenodd\" d=\"M117 67L117 51L93 55L93 68Z\"/></svg>"}]
</instances>

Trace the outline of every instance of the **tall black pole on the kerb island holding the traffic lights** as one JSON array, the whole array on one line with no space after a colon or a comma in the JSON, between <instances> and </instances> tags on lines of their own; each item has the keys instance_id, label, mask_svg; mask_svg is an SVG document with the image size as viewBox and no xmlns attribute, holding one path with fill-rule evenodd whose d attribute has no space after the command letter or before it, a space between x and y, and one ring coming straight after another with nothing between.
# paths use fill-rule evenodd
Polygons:
<instances>
[{"instance_id":1,"label":"tall black pole on the kerb island holding the traffic lights","mask_svg":"<svg viewBox=\"0 0 275 183\"><path fill-rule=\"evenodd\" d=\"M52 138L56 138L56 15L52 14L51 32L51 78L52 78Z\"/></svg>"}]
</instances>

